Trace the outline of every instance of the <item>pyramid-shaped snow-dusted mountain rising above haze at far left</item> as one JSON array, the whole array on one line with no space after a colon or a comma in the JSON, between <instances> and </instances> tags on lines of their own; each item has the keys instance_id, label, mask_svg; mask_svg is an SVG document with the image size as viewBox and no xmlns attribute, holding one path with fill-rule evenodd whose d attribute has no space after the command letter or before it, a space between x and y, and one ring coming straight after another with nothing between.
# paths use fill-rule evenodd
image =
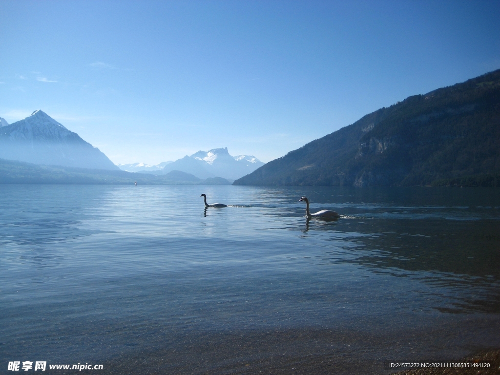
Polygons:
<instances>
[{"instance_id":1,"label":"pyramid-shaped snow-dusted mountain rising above haze at far left","mask_svg":"<svg viewBox=\"0 0 500 375\"><path fill-rule=\"evenodd\" d=\"M35 164L119 170L98 148L41 110L0 127L0 158Z\"/></svg>"}]
</instances>

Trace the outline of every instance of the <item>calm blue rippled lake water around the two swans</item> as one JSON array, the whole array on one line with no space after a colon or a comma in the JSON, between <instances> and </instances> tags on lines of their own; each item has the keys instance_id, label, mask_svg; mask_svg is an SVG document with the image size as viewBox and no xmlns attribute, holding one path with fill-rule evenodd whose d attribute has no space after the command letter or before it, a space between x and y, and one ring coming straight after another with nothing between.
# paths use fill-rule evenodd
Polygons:
<instances>
[{"instance_id":1,"label":"calm blue rippled lake water around the two swans","mask_svg":"<svg viewBox=\"0 0 500 375\"><path fill-rule=\"evenodd\" d=\"M343 216L306 220L303 195ZM498 189L0 185L0 207L1 373L389 373L500 347Z\"/></svg>"}]
</instances>

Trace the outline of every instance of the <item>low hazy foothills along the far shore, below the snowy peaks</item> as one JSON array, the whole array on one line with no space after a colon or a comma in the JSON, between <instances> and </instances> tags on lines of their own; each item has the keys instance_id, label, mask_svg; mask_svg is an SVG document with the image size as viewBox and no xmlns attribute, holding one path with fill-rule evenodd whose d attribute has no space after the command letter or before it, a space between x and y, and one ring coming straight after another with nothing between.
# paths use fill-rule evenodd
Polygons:
<instances>
[{"instance_id":1,"label":"low hazy foothills along the far shore, below the snowy peaks","mask_svg":"<svg viewBox=\"0 0 500 375\"><path fill-rule=\"evenodd\" d=\"M69 166L37 165L0 159L0 183L31 184L130 184L137 185L230 185L226 179L201 179L173 170L164 175L132 173L124 170L87 169Z\"/></svg>"}]
</instances>

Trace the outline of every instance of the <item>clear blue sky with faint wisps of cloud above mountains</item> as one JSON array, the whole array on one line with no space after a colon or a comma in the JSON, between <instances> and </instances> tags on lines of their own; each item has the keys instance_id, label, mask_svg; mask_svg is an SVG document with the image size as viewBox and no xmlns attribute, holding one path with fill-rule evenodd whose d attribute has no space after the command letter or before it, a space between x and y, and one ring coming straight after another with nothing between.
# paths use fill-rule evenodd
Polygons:
<instances>
[{"instance_id":1,"label":"clear blue sky with faint wisps of cloud above mountains","mask_svg":"<svg viewBox=\"0 0 500 375\"><path fill-rule=\"evenodd\" d=\"M114 163L267 162L500 68L500 1L0 1L0 117L41 109Z\"/></svg>"}]
</instances>

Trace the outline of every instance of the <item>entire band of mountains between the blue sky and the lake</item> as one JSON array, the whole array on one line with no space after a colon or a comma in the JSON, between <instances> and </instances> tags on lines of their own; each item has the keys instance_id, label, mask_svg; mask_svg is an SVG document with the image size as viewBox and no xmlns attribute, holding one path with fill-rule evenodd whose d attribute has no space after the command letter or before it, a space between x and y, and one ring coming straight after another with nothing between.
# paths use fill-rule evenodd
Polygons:
<instances>
[{"instance_id":1,"label":"entire band of mountains between the blue sky and the lake","mask_svg":"<svg viewBox=\"0 0 500 375\"><path fill-rule=\"evenodd\" d=\"M41 110L12 124L0 118L0 183L233 179L235 185L500 186L500 69L382 107L267 164L231 156L225 147L118 168Z\"/></svg>"}]
</instances>

